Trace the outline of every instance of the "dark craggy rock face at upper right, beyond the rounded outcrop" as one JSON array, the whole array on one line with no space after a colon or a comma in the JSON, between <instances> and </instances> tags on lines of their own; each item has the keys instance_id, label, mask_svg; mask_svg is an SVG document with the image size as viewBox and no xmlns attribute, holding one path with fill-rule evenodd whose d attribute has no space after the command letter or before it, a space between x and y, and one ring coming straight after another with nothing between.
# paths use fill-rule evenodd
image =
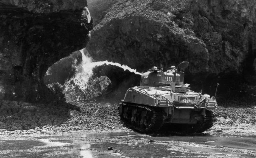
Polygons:
<instances>
[{"instance_id":1,"label":"dark craggy rock face at upper right, beyond the rounded outcrop","mask_svg":"<svg viewBox=\"0 0 256 158\"><path fill-rule=\"evenodd\" d=\"M211 71L241 73L244 68L252 68L256 57L253 29L256 2L211 0L205 3L201 0L198 4L193 8L193 30L211 54L208 62Z\"/></svg>"}]
</instances>

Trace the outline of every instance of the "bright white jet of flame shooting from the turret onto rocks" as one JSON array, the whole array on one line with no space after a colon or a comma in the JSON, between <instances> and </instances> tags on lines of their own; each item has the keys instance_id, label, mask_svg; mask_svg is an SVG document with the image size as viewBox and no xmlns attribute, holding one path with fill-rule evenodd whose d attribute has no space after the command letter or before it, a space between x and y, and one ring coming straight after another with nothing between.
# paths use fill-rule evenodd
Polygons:
<instances>
[{"instance_id":1,"label":"bright white jet of flame shooting from the turret onto rocks","mask_svg":"<svg viewBox=\"0 0 256 158\"><path fill-rule=\"evenodd\" d=\"M124 71L128 70L130 72L133 72L138 75L142 75L140 72L137 72L135 69L132 69L126 65L121 65L116 62L108 62L106 61L100 61L100 62L92 62L92 58L85 55L87 52L86 49L80 50L82 53L82 63L76 68L76 74L74 75L73 78L70 80L73 80L74 83L79 86L80 89L85 89L87 86L88 79L93 75L93 68L96 66L101 66L101 65L113 65L113 66L118 66L122 68ZM86 53L87 54L87 53Z\"/></svg>"}]
</instances>

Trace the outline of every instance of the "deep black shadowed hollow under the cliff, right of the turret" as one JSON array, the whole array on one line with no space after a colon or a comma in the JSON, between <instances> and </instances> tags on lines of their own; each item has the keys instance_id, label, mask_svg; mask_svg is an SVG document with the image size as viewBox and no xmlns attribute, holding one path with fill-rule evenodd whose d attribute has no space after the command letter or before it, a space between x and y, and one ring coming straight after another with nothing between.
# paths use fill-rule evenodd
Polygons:
<instances>
[{"instance_id":1,"label":"deep black shadowed hollow under the cliff, right of the turret","mask_svg":"<svg viewBox=\"0 0 256 158\"><path fill-rule=\"evenodd\" d=\"M250 80L253 80L251 76ZM219 74L185 74L184 83L190 84L191 90L202 91L202 94L214 96L219 105L224 107L253 107L256 101L255 82L250 84L248 76L237 72L222 72ZM254 79L255 81L255 79Z\"/></svg>"}]
</instances>

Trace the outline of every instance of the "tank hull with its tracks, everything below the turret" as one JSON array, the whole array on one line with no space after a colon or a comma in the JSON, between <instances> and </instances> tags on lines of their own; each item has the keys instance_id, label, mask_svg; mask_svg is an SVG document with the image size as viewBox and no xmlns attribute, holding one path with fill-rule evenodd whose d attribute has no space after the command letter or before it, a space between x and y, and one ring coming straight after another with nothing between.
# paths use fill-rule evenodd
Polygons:
<instances>
[{"instance_id":1,"label":"tank hull with its tracks, everything below the turret","mask_svg":"<svg viewBox=\"0 0 256 158\"><path fill-rule=\"evenodd\" d=\"M214 107L215 100L202 99L199 93L134 87L127 90L119 113L127 126L143 133L200 133L213 126L209 109Z\"/></svg>"}]
</instances>

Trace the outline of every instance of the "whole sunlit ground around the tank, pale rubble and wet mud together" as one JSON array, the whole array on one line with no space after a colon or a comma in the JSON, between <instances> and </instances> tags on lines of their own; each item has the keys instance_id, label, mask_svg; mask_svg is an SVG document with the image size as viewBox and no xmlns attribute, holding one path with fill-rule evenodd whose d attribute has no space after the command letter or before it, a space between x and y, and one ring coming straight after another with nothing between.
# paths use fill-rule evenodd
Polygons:
<instances>
[{"instance_id":1,"label":"whole sunlit ground around the tank, pale rubble and wet mud together","mask_svg":"<svg viewBox=\"0 0 256 158\"><path fill-rule=\"evenodd\" d=\"M117 103L72 102L72 105L76 108L70 109L68 114L61 112L58 114L58 118L67 115L66 121L62 120L61 123L54 124L48 120L49 124L44 126L35 124L34 129L21 129L20 125L47 122L47 118L53 118L57 113L54 108L51 109L51 117L40 117L45 120L38 121L36 117L31 118L32 114L22 113L22 110L21 113L1 119L1 126L6 129L0 130L0 157L248 158L256 156L254 108L219 106L214 110L217 122L202 134L146 135L136 133L120 122ZM24 108L28 107L24 106ZM67 108L63 112L65 110ZM37 114L43 114L36 111ZM30 118L27 118L28 116ZM9 122L12 122L12 126Z\"/></svg>"}]
</instances>

